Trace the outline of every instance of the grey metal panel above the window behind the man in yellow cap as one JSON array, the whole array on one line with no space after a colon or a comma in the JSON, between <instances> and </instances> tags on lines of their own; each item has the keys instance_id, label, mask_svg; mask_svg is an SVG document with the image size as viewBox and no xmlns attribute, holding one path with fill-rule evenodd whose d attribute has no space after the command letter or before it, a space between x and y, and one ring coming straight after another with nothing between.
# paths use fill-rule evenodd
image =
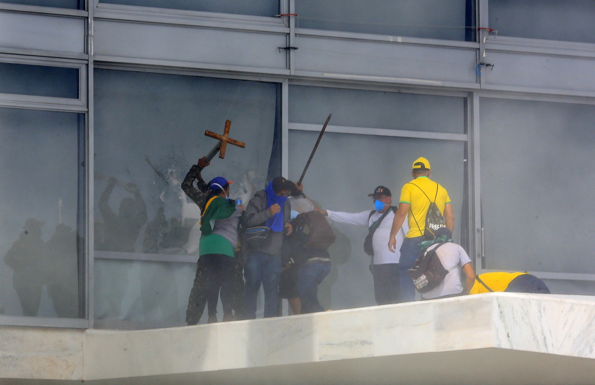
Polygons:
<instances>
[{"instance_id":1,"label":"grey metal panel above the window behind the man in yellow cap","mask_svg":"<svg viewBox=\"0 0 595 385\"><path fill-rule=\"evenodd\" d=\"M475 83L475 49L299 36L296 71ZM372 80L374 79L362 79ZM423 83L423 82L419 82ZM434 84L439 85L440 83Z\"/></svg>"}]
</instances>

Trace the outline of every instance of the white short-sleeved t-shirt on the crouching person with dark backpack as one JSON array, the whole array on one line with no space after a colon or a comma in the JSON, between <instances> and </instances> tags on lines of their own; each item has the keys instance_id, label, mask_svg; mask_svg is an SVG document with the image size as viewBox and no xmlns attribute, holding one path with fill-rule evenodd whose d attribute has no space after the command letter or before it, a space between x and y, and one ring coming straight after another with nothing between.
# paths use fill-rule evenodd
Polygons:
<instances>
[{"instance_id":1,"label":"white short-sleeved t-shirt on the crouching person with dark backpack","mask_svg":"<svg viewBox=\"0 0 595 385\"><path fill-rule=\"evenodd\" d=\"M428 250L436 248L437 245L437 243L431 245ZM424 299L461 293L463 287L461 286L461 271L459 268L471 262L465 249L452 242L444 243L444 245L440 246L440 248L436 250L436 255L438 255L440 262L442 262L442 265L446 270L450 270L453 267L456 268L446 274L446 277L444 277L444 280L438 286L434 287L434 289L429 292L424 293L422 295Z\"/></svg>"}]
</instances>

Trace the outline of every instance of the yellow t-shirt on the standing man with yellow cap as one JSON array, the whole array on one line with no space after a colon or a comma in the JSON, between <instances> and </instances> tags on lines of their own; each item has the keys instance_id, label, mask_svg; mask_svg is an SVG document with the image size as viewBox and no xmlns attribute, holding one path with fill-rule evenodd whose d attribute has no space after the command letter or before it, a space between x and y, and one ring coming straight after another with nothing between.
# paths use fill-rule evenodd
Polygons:
<instances>
[{"instance_id":1,"label":"yellow t-shirt on the standing man with yellow cap","mask_svg":"<svg viewBox=\"0 0 595 385\"><path fill-rule=\"evenodd\" d=\"M438 187L438 194L436 194L436 187ZM448 196L448 192L446 192L444 187L424 176L417 177L409 183L405 183L405 186L401 189L399 203L411 205L411 209L407 215L409 218L409 232L406 237L414 238L424 235L425 214L428 212L428 208L430 208L430 203L434 202L434 197L436 197L436 206L438 206L441 214L444 215L444 206L450 203L450 196ZM412 213L413 215L411 215Z\"/></svg>"}]
</instances>

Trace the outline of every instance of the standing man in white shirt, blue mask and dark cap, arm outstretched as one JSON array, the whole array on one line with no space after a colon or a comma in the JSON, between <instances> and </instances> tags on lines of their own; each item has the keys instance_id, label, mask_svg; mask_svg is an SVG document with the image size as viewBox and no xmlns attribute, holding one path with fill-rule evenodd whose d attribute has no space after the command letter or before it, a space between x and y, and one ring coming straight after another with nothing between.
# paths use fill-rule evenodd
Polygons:
<instances>
[{"instance_id":1,"label":"standing man in white shirt, blue mask and dark cap, arm outstretched","mask_svg":"<svg viewBox=\"0 0 595 385\"><path fill-rule=\"evenodd\" d=\"M390 239L390 229L393 223L394 211L391 209L392 196L390 190L384 186L378 186L373 193L368 195L374 199L375 210L350 213L331 210L321 210L322 214L328 215L333 221L347 224L366 226L368 229L384 214L380 225L372 237L372 249L374 259L372 261L372 276L374 276L374 298L378 305L401 302L400 282L411 279L409 276L399 276L399 248L405 234L409 231L407 221L403 222L402 229L397 233L397 249L390 251L386 243Z\"/></svg>"}]
</instances>

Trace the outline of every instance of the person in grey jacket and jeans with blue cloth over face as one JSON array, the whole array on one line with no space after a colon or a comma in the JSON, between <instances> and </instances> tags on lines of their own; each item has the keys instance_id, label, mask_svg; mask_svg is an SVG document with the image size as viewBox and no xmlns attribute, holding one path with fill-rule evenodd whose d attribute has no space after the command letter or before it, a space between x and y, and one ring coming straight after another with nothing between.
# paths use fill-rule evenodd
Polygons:
<instances>
[{"instance_id":1,"label":"person in grey jacket and jeans with blue cloth over face","mask_svg":"<svg viewBox=\"0 0 595 385\"><path fill-rule=\"evenodd\" d=\"M281 280L281 245L283 234L291 234L291 204L287 200L295 184L283 177L275 177L267 188L250 199L244 221L246 227L267 226L271 229L264 245L250 248L244 267L246 280L244 312L246 320L256 318L256 296L261 284L264 289L264 317L277 315L277 299Z\"/></svg>"}]
</instances>

